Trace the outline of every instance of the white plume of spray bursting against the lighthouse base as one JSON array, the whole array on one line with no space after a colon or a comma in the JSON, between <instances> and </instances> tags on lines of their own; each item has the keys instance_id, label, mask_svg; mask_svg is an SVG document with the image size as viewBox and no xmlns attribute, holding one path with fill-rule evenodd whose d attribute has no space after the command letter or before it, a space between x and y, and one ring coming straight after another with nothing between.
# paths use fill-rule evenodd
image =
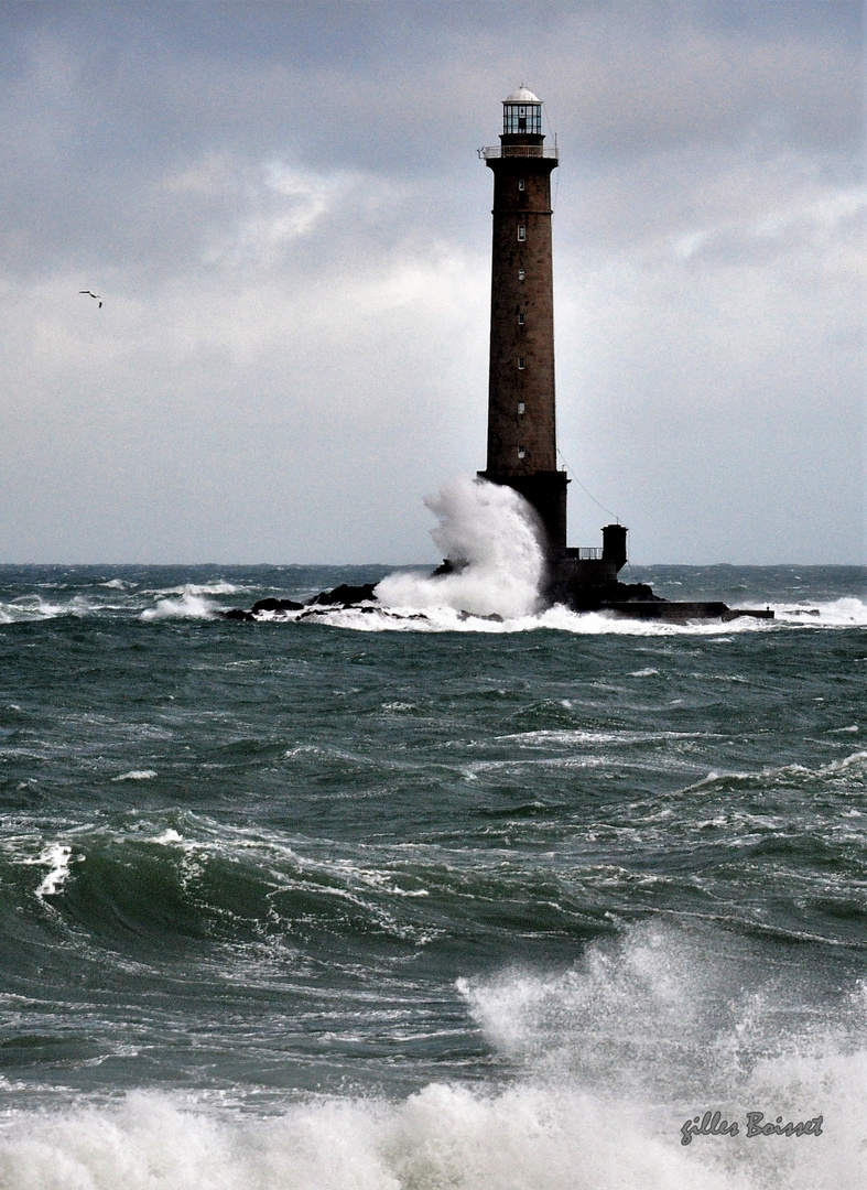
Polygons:
<instances>
[{"instance_id":1,"label":"white plume of spray bursting against the lighthouse base","mask_svg":"<svg viewBox=\"0 0 867 1190\"><path fill-rule=\"evenodd\" d=\"M511 488L459 476L426 496L440 524L431 537L454 565L447 575L389 575L376 589L388 607L451 607L505 619L539 607L544 557L533 509Z\"/></svg>"}]
</instances>

